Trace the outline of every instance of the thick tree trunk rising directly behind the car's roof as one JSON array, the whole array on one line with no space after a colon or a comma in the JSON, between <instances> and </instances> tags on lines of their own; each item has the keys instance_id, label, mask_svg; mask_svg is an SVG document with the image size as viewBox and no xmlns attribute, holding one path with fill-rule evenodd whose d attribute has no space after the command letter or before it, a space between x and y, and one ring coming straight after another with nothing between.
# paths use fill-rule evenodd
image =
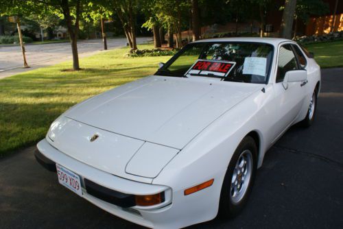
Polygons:
<instances>
[{"instance_id":1,"label":"thick tree trunk rising directly behind the car's roof","mask_svg":"<svg viewBox=\"0 0 343 229\"><path fill-rule=\"evenodd\" d=\"M296 0L286 0L285 9L283 10L283 16L280 27L280 36L282 38L292 38L292 28L294 21L294 12L296 11Z\"/></svg>"}]
</instances>

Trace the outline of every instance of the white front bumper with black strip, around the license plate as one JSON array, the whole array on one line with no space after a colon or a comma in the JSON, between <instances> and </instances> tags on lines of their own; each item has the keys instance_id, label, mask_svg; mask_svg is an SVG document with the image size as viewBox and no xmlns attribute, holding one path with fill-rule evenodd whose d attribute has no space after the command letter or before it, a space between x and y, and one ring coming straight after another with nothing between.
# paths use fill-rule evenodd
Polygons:
<instances>
[{"instance_id":1,"label":"white front bumper with black strip, around the license plate","mask_svg":"<svg viewBox=\"0 0 343 229\"><path fill-rule=\"evenodd\" d=\"M82 197L99 208L106 210L108 213L117 215L128 221L133 221L136 224L153 228L153 219L154 217L158 217L154 216L156 215L154 212L157 210L158 212L163 213L164 210L171 207L171 190L168 186L135 182L95 169L94 167L63 154L58 151L58 149L52 147L45 139L38 143L35 157L40 165L43 165L43 167L49 171L56 171L56 163L58 163L77 173L82 180ZM85 187L85 182L87 181L93 182L93 190L92 192L89 191L89 193ZM99 187L102 190L99 190ZM95 194L96 192L99 193L99 191L104 191L104 189L106 191L112 191L112 193L117 193L118 195L116 195L115 198L123 197L123 199L113 202L115 204L111 204L108 202L108 198L102 198L104 192L100 193L100 195ZM134 195L152 195L163 191L166 193L166 198L165 202L162 204L152 207L132 206L131 197ZM113 200L113 197L111 199Z\"/></svg>"}]
</instances>

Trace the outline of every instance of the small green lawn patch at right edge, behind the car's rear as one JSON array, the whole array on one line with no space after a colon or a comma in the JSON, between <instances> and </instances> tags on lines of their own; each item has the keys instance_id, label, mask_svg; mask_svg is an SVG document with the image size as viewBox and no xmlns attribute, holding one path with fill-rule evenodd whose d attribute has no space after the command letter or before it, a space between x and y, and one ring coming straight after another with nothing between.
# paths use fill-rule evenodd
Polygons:
<instances>
[{"instance_id":1,"label":"small green lawn patch at right edge, behind the car's rear","mask_svg":"<svg viewBox=\"0 0 343 229\"><path fill-rule=\"evenodd\" d=\"M305 46L321 68L343 67L343 40Z\"/></svg>"}]
</instances>

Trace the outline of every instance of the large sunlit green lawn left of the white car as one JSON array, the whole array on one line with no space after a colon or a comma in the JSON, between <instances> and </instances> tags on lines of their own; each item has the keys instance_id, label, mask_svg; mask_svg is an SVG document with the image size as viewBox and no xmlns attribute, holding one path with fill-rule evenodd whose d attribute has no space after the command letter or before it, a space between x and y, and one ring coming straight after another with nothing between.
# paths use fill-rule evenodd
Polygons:
<instances>
[{"instance_id":1,"label":"large sunlit green lawn left of the white car","mask_svg":"<svg viewBox=\"0 0 343 229\"><path fill-rule=\"evenodd\" d=\"M140 45L139 49L152 45ZM0 156L33 145L64 110L110 88L150 75L158 62L170 57L125 58L128 48L104 51L80 59L82 71L71 62L0 80Z\"/></svg>"}]
</instances>

